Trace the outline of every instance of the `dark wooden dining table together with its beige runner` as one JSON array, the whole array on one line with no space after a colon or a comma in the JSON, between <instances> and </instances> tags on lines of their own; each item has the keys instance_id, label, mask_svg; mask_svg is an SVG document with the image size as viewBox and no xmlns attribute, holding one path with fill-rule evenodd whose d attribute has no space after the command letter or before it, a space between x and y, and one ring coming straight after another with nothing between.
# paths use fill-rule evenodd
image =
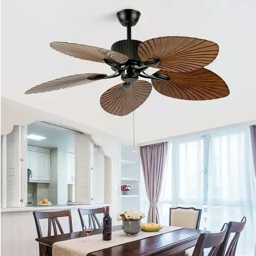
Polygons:
<instances>
[{"instance_id":1,"label":"dark wooden dining table together with its beige runner","mask_svg":"<svg viewBox=\"0 0 256 256\"><path fill-rule=\"evenodd\" d=\"M102 229L94 229L89 236L85 231L71 232L65 234L58 234L56 236L37 238L36 241L41 247L41 251L45 255L86 255L86 256L184 256L185 250L196 245L197 240L201 233L207 232L206 230L189 229L189 228L176 228L164 226L162 232L143 232L141 236L135 238L129 237L123 232L122 225L112 227L112 240L118 235L118 239L123 239L123 242L118 244L114 241L103 241L104 248L95 250L95 244L102 243ZM140 234L139 233L139 234ZM151 233L151 234L150 234ZM113 236L113 234L115 234ZM97 236L98 235L98 236ZM97 236L95 240L92 236ZM136 236L134 236L136 237ZM126 239L128 238L128 240ZM70 241L73 240L73 241ZM117 240L117 239L116 239ZM73 243L76 242L76 243ZM114 243L113 243L114 242ZM56 244L55 244L56 243ZM109 244L108 244L109 243ZM55 245L54 245L55 244ZM79 247L77 247L79 244ZM57 246L58 245L58 246ZM113 246L114 245L114 246ZM102 245L101 245L102 246ZM54 247L54 249L53 249ZM58 248L57 248L58 247ZM65 248L64 248L65 247ZM56 249L57 248L57 249ZM67 249L57 253L58 249ZM76 251L77 248L77 251ZM82 251L87 249L87 252ZM43 256L43 255L40 255Z\"/></svg>"}]
</instances>

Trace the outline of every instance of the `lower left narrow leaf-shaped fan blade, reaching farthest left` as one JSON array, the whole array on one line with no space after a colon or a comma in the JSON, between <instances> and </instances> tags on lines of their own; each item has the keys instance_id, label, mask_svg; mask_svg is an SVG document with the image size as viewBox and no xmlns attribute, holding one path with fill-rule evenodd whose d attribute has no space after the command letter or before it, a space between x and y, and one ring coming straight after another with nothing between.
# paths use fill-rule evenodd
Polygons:
<instances>
[{"instance_id":1,"label":"lower left narrow leaf-shaped fan blade, reaching farthest left","mask_svg":"<svg viewBox=\"0 0 256 256\"><path fill-rule=\"evenodd\" d=\"M94 82L95 80L89 80L90 77L97 77L99 76L99 79L103 79L106 74L79 74L79 75L73 75L73 76L65 76L61 78L57 78L48 82L44 82L39 84L38 86L32 87L29 89L25 94L32 94L32 93L44 93L44 92L50 92L54 90L59 89L65 89L75 86L82 86L83 84Z\"/></svg>"}]
</instances>

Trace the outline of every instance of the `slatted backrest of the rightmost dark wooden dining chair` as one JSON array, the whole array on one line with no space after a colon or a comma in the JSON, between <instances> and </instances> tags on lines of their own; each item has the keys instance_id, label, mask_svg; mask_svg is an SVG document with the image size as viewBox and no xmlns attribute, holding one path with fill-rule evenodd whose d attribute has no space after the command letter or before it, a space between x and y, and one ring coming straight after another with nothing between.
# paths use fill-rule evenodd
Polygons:
<instances>
[{"instance_id":1,"label":"slatted backrest of the rightmost dark wooden dining chair","mask_svg":"<svg viewBox=\"0 0 256 256\"><path fill-rule=\"evenodd\" d=\"M218 250L218 256L224 256L224 255L225 256L234 256L236 254L236 249L237 249L238 240L240 238L240 233L243 231L245 223L246 223L246 217L243 217L241 222L230 221L228 223L227 233L223 240L223 243L221 244L221 246ZM234 233L234 237L231 240L231 242L228 246L228 249L225 253L231 233Z\"/></svg>"}]
</instances>

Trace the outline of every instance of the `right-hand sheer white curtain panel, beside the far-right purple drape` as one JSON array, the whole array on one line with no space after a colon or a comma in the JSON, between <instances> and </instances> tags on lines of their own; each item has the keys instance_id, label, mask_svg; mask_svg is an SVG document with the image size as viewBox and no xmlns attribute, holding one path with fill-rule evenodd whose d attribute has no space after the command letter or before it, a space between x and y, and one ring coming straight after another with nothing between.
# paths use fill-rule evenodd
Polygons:
<instances>
[{"instance_id":1,"label":"right-hand sheer white curtain panel, beside the far-right purple drape","mask_svg":"<svg viewBox=\"0 0 256 256\"><path fill-rule=\"evenodd\" d=\"M247 223L236 255L255 255L255 199L249 128L226 130L210 135L207 230L219 231L223 223Z\"/></svg>"}]
</instances>

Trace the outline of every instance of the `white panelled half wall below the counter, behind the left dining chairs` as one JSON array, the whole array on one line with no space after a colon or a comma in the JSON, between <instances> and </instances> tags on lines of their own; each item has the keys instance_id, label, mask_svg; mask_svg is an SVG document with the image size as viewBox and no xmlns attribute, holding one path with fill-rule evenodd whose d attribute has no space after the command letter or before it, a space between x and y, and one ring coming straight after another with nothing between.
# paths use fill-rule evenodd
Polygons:
<instances>
[{"instance_id":1,"label":"white panelled half wall below the counter, behind the left dining chairs","mask_svg":"<svg viewBox=\"0 0 256 256\"><path fill-rule=\"evenodd\" d=\"M99 204L98 207L104 206L105 205ZM82 230L77 208L78 207L71 208L71 217L74 232ZM84 208L96 207L95 205L92 205ZM53 209L52 211L63 209L67 209L67 207L61 209ZM38 210L49 211L50 209ZM97 215L97 218L102 218L102 215ZM88 223L87 218L85 218L85 221L86 223ZM59 222L63 229L63 232L69 232L68 217L59 218ZM46 219L42 219L40 220L40 225L42 235L47 236L48 221ZM35 220L33 217L33 210L1 212L1 230L1 256L39 256L38 242L35 241L35 239L37 238L37 232Z\"/></svg>"}]
</instances>

